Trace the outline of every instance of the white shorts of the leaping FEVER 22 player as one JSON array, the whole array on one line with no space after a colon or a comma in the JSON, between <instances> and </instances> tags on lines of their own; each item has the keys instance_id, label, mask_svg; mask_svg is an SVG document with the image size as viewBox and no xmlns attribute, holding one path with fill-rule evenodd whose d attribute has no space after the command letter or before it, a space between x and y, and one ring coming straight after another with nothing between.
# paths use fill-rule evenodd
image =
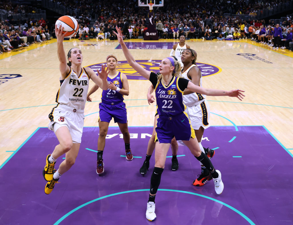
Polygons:
<instances>
[{"instance_id":1,"label":"white shorts of the leaping FEVER 22 player","mask_svg":"<svg viewBox=\"0 0 293 225\"><path fill-rule=\"evenodd\" d=\"M58 104L57 107L52 109L49 118L51 119L48 125L49 130L56 133L59 127L67 126L73 143L81 143L84 129L84 110Z\"/></svg>"}]
</instances>

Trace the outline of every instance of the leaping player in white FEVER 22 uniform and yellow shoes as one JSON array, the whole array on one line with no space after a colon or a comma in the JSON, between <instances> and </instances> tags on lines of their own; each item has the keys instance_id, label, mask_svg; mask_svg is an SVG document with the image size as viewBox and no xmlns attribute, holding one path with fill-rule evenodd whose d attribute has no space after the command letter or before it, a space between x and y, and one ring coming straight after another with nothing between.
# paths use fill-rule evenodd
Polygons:
<instances>
[{"instance_id":1,"label":"leaping player in white FEVER 22 uniform and yellow shoes","mask_svg":"<svg viewBox=\"0 0 293 225\"><path fill-rule=\"evenodd\" d=\"M45 186L46 194L52 192L60 176L71 168L79 152L89 78L103 90L108 89L108 70L105 71L105 67L102 66L102 70L100 73L98 71L99 76L97 76L91 68L83 68L81 66L83 56L80 49L69 50L67 54L69 63L67 63L63 48L63 40L67 32L62 34L63 29L61 25L59 29L55 25L61 86L56 97L58 104L49 114L51 122L48 128L54 131L59 145L56 145L53 153L47 155L46 158L46 166L43 170L43 176L48 181ZM64 153L66 153L66 159L56 171L54 169L56 160Z\"/></svg>"}]
</instances>

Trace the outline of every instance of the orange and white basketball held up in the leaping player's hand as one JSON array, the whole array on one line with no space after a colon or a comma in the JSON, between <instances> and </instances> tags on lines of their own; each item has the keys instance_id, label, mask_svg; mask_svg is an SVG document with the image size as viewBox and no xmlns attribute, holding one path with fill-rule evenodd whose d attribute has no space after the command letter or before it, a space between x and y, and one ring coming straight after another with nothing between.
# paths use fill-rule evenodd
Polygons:
<instances>
[{"instance_id":1,"label":"orange and white basketball held up in the leaping player's hand","mask_svg":"<svg viewBox=\"0 0 293 225\"><path fill-rule=\"evenodd\" d=\"M59 29L59 26L62 25L64 28L63 34L67 31L67 34L64 37L73 37L79 28L76 19L72 16L61 16L55 24L57 25L57 29Z\"/></svg>"}]
</instances>

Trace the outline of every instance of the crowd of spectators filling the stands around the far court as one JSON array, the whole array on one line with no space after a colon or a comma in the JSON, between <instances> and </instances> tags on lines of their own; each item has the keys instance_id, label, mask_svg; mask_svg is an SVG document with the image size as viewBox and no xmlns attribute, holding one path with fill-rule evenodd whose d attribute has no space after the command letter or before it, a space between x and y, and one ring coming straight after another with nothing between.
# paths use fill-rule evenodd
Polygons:
<instances>
[{"instance_id":1,"label":"crowd of spectators filling the stands around the far court","mask_svg":"<svg viewBox=\"0 0 293 225\"><path fill-rule=\"evenodd\" d=\"M280 2L286 1L287 0L201 0L195 3L192 0L173 0L172 4L165 4L164 7L154 7L154 23L159 38L161 39L178 39L181 35L184 35L186 39L202 38L206 40L239 40L241 38L251 37L252 40L259 41L260 43L268 43L269 41L271 43L273 40L273 44L276 45L274 46L275 49L278 47L289 48L286 44L288 39L284 36L286 35L287 37L289 34L290 37L290 33L292 34L293 25L290 17L280 24L281 29L284 31L281 33L282 37L277 36L280 37L280 40L279 38L274 38L275 27L277 26L274 21L240 19L241 14L249 14L253 18L259 10L262 10L263 8L270 9ZM139 36L143 37L147 30L147 13L149 12L149 8L138 7L137 1L134 0L128 2L132 2L132 4L126 4L125 2L117 0L102 0L99 2L93 0L65 0L61 2L57 0L55 2L57 4L62 4L70 10L74 10L74 12L79 12L79 14L73 13L74 15L71 15L79 22L79 31L74 38L96 38L97 40L115 39L116 37L113 30L115 30L116 25L121 28L125 39L136 39ZM13 7L13 4L10 2L10 4L5 5L4 10L9 13L19 13L20 11L25 11L25 8L26 7L18 5ZM239 15L239 17L225 17L224 13L236 14ZM15 28L11 26L12 24L7 26L6 23L9 22L1 21L1 31L3 30L3 36L5 35L5 30L7 33L8 30L12 33L18 33L19 38L14 38L18 41L17 46L16 42L13 42L16 47L20 47L19 45L22 44L25 45L50 38L50 36L47 37L50 35L50 27L48 28L49 21L41 20L37 22L32 19L26 21L24 23L26 34L23 33L23 30L20 30L21 26ZM54 22L51 24L54 25ZM33 29L35 29L36 33ZM55 37L54 28L51 27L51 29L52 36ZM259 30L261 31L260 35ZM273 37L272 40L270 38L271 34ZM10 36L11 35L9 35L9 38ZM28 37L28 41L24 42L21 36ZM23 43L21 41L23 41ZM9 42L11 41L9 40Z\"/></svg>"}]
</instances>

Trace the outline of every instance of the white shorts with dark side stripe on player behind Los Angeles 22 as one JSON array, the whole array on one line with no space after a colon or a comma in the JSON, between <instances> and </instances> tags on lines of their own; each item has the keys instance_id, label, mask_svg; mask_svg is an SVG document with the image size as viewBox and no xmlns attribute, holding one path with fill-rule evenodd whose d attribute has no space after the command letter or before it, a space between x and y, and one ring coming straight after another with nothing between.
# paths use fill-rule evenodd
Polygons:
<instances>
[{"instance_id":1,"label":"white shorts with dark side stripe on player behind Los Angeles 22","mask_svg":"<svg viewBox=\"0 0 293 225\"><path fill-rule=\"evenodd\" d=\"M185 112L190 119L191 126L194 130L198 130L201 126L208 128L209 125L209 103L204 101L196 106L186 106Z\"/></svg>"}]
</instances>

